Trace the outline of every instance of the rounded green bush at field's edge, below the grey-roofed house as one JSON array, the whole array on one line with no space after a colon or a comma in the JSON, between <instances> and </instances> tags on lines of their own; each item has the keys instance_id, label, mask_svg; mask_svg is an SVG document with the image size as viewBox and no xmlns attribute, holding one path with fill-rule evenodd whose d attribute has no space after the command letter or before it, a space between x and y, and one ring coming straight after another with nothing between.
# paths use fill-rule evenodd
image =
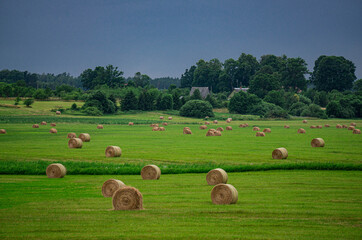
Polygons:
<instances>
[{"instance_id":1,"label":"rounded green bush at field's edge, below the grey-roofed house","mask_svg":"<svg viewBox=\"0 0 362 240\"><path fill-rule=\"evenodd\" d=\"M213 117L214 113L209 102L190 100L181 107L180 115L185 117L204 118L206 116Z\"/></svg>"}]
</instances>

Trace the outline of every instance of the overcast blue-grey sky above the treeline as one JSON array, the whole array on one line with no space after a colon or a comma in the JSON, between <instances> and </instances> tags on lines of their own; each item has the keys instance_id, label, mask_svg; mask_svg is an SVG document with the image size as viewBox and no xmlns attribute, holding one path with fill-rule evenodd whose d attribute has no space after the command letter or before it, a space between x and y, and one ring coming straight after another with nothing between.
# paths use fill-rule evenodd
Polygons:
<instances>
[{"instance_id":1,"label":"overcast blue-grey sky above the treeline","mask_svg":"<svg viewBox=\"0 0 362 240\"><path fill-rule=\"evenodd\" d=\"M0 0L0 69L117 66L180 77L199 59L241 53L344 56L362 78L361 0Z\"/></svg>"}]
</instances>

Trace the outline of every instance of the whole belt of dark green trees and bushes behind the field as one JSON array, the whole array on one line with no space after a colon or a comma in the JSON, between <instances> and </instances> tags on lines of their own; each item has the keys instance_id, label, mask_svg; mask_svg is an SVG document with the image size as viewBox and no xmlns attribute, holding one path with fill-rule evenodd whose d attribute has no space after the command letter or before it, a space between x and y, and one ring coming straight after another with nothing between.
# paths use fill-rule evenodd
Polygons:
<instances>
[{"instance_id":1,"label":"whole belt of dark green trees and bushes behind the field","mask_svg":"<svg viewBox=\"0 0 362 240\"><path fill-rule=\"evenodd\" d=\"M84 70L80 76L67 73L36 74L17 70L0 71L0 96L46 100L85 101L87 115L114 114L130 110L180 110L190 100L207 101L208 107L227 107L232 113L253 114L264 118L362 117L362 79L356 80L356 67L344 57L320 56L312 72L302 58L263 55L257 60L242 53L238 59L200 59L181 78L155 78L137 72L123 77L113 65ZM309 75L309 78L307 76ZM208 87L202 99L191 87ZM246 92L233 93L235 88ZM230 95L230 97L229 97ZM29 102L29 101L28 101ZM206 106L195 102L191 106ZM199 107L194 107L199 108ZM325 109L323 109L325 108ZM64 110L64 109L60 109ZM209 110L200 109L200 112ZM184 110L183 110L184 112Z\"/></svg>"}]
</instances>

